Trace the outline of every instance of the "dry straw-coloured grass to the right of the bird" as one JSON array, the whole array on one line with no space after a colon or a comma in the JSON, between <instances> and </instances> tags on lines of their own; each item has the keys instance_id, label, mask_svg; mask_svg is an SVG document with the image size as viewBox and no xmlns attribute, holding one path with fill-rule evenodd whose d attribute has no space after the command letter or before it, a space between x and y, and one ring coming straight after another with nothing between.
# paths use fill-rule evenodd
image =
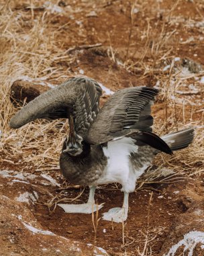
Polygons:
<instances>
[{"instance_id":1,"label":"dry straw-coloured grass to the right of the bird","mask_svg":"<svg viewBox=\"0 0 204 256\"><path fill-rule=\"evenodd\" d=\"M190 148L174 152L169 157L166 154L158 154L154 163L159 166L156 170L147 172L142 180L138 183L152 183L161 175L161 169L166 167L174 171L175 174L186 174L191 177L203 174L204 168L204 103L203 103L203 84L199 83L199 79L204 75L204 70L199 73L187 72L182 65L182 61L176 62L175 49L169 44L172 36L178 34L177 30L168 31L168 26L172 24L172 13L176 9L180 0L176 1L170 8L168 15L162 22L160 32L157 25L150 29L150 20L147 20L146 30L144 30L143 38L145 40L144 51L142 57L134 62L136 52L132 52L132 59L126 61L127 70L139 71L142 75L140 79L148 77L148 84L158 84L160 96L159 104L164 109L161 117L156 116L154 121L154 131L163 135L166 133L179 131L188 127L195 127L195 139ZM187 30L185 24L182 30ZM132 16L131 24L132 28ZM129 52L130 42L127 46ZM151 61L149 61L149 59ZM164 66L168 69L164 71ZM195 65L198 65L195 63ZM191 67L189 67L189 70ZM191 90L193 83L193 90ZM195 94L199 94L198 97ZM185 95L185 96L184 96ZM174 177L174 175L172 175ZM164 178L166 181L166 178ZM170 177L168 177L168 182ZM174 178L173 178L174 181Z\"/></svg>"}]
</instances>

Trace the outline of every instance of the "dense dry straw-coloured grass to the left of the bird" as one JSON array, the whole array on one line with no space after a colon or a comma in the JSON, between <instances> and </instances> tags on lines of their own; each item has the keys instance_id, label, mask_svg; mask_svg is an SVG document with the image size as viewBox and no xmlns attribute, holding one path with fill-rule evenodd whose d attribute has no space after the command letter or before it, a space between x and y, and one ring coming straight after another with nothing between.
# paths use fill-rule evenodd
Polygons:
<instances>
[{"instance_id":1,"label":"dense dry straw-coloured grass to the left of the bird","mask_svg":"<svg viewBox=\"0 0 204 256\"><path fill-rule=\"evenodd\" d=\"M52 79L62 75L53 65L56 59L69 57L56 46L58 32L48 27L46 11L34 21L30 20L30 11L11 11L9 5L1 8L0 147L8 158L19 158L38 168L58 164L66 125L62 121L36 121L18 130L9 129L9 119L16 111L9 99L9 88L24 76Z\"/></svg>"}]
</instances>

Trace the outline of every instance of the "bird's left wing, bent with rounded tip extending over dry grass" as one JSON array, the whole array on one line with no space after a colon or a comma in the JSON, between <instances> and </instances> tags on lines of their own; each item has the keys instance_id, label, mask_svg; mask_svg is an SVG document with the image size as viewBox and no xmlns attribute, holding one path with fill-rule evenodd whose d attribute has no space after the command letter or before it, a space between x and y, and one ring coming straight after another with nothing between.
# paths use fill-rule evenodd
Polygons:
<instances>
[{"instance_id":1,"label":"bird's left wing, bent with rounded tip extending over dry grass","mask_svg":"<svg viewBox=\"0 0 204 256\"><path fill-rule=\"evenodd\" d=\"M83 137L99 113L99 84L88 77L71 77L44 92L12 117L10 126L19 128L35 119L74 119L75 131Z\"/></svg>"}]
</instances>

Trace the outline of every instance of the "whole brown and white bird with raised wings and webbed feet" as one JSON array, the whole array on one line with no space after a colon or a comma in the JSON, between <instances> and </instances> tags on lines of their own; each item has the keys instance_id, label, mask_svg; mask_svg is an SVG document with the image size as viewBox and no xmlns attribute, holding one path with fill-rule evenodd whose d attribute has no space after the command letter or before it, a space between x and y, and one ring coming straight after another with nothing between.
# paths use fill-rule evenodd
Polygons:
<instances>
[{"instance_id":1,"label":"whole brown and white bird with raised wings and webbed feet","mask_svg":"<svg viewBox=\"0 0 204 256\"><path fill-rule=\"evenodd\" d=\"M89 186L82 204L63 204L66 213L91 214L103 207L95 203L98 185L119 183L123 205L103 213L103 220L127 220L128 196L138 178L160 152L172 154L193 141L189 127L159 137L152 132L151 106L158 90L138 86L118 90L102 108L99 82L89 77L70 77L23 106L10 120L17 129L35 119L68 119L69 132L60 154L60 170L70 183Z\"/></svg>"}]
</instances>

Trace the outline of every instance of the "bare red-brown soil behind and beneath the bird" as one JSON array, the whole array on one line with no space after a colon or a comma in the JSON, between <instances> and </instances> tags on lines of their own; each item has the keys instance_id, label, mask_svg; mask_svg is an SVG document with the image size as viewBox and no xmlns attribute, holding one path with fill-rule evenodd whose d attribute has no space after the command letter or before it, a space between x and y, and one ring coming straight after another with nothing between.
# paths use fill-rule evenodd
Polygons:
<instances>
[{"instance_id":1,"label":"bare red-brown soil behind and beneath the bird","mask_svg":"<svg viewBox=\"0 0 204 256\"><path fill-rule=\"evenodd\" d=\"M44 7L40 8L42 2L34 1L32 4L38 8L32 10L30 1L11 3L15 15L18 11L24 13L21 28L25 32L32 27L32 15L34 18L42 18L45 11ZM52 2L63 11L48 11L46 29L50 38L52 32L57 31L58 38L54 39L58 49L68 51L68 60L62 58L52 61L50 67L60 70L61 76L53 75L50 82L64 81L62 74L68 77L83 72L84 75L93 77L107 88L116 91L130 86L155 86L160 73L164 82L165 75L168 79L170 73L165 73L163 68L170 64L174 57L180 57L181 60L189 58L204 65L203 1L136 1L135 6L133 1L117 0ZM74 46L97 43L102 46L91 49L76 47L72 50ZM178 65L181 66L181 63ZM201 75L199 79L200 77ZM198 82L191 77L185 83L189 85ZM183 123L183 104L178 104L177 120L170 119L166 126L164 125L165 96L161 94L158 97L153 108L158 134L174 127L179 121L180 127L181 123L187 126L190 122L200 122L199 125L203 125L202 86L203 84L199 84L198 94L177 95L178 98L185 98L187 102ZM187 86L183 85L183 90L187 90ZM104 96L102 102L107 98L108 96ZM200 104L192 105L188 102ZM175 108L168 107L167 110L168 117L174 115ZM65 184L60 170L39 172L36 171L36 163L21 163L20 158L11 157L12 152L9 156L3 153L3 150L1 152L0 171L30 173L35 174L36 178L21 180L15 177L14 172L11 172L11 177L3 177L0 173L0 255L106 255L103 250L93 248L92 245L95 245L112 256L162 256L167 255L170 248L181 241L188 232L204 232L203 173L191 177L191 172L196 171L191 165L186 166L187 172L176 175L178 181L169 179L164 182L158 179L140 189L137 187L130 195L127 221L124 224L116 224L99 219L95 232L91 214L64 214L60 207L50 203L54 197L54 202L62 197L74 199L83 188L72 187L68 181ZM189 154L185 153L185 150L183 152ZM160 158L163 157L160 155ZM197 161L195 168L200 170L202 164L202 161ZM173 164L167 162L167 165L168 168L174 168ZM40 176L42 173L49 174L60 183L60 187ZM66 189L66 185L70 187ZM60 190L62 187L64 190ZM28 203L16 201L16 198L25 192L35 196L34 191L38 194L34 202L31 199ZM81 197L74 203L86 201L88 195L89 189L85 188ZM99 210L98 217L101 218L103 212L121 206L123 194L116 185L101 186L96 191L96 199L98 203L105 203ZM20 215L22 219L18 217ZM23 226L22 220L40 230L49 230L56 236L34 234ZM68 238L68 241L64 238ZM204 255L201 245L195 245L193 255ZM183 248L178 249L174 256L182 255ZM186 251L183 255L190 254Z\"/></svg>"}]
</instances>

